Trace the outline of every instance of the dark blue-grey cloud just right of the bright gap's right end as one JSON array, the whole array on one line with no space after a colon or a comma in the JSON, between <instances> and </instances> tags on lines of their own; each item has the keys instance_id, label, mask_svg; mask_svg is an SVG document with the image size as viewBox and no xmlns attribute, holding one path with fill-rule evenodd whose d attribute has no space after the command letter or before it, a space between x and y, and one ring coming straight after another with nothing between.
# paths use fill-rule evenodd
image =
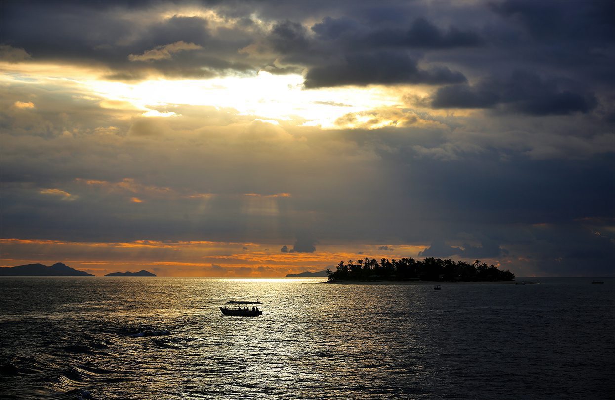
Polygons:
<instances>
[{"instance_id":1,"label":"dark blue-grey cloud just right of the bright gap's right end","mask_svg":"<svg viewBox=\"0 0 615 400\"><path fill-rule=\"evenodd\" d=\"M565 84L565 82L563 82ZM542 79L538 74L515 71L507 80L485 79L476 85L439 88L434 108L494 108L502 104L509 112L549 115L589 112L597 105L593 93L571 92L560 88L556 79Z\"/></svg>"}]
</instances>

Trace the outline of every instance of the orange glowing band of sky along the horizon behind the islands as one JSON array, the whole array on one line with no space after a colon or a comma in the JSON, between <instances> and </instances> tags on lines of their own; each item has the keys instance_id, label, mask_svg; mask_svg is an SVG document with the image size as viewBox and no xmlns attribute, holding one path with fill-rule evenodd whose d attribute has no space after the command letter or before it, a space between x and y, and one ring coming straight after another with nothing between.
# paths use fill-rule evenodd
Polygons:
<instances>
[{"instance_id":1,"label":"orange glowing band of sky along the horizon behind the islands","mask_svg":"<svg viewBox=\"0 0 615 400\"><path fill-rule=\"evenodd\" d=\"M159 276L285 276L287 273L335 269L339 261L369 258L416 257L425 246L397 246L378 251L376 245L359 246L357 254L344 246L320 246L314 253L282 253L271 243L218 241L71 242L2 238L2 266L55 262L95 275L122 270L151 270ZM351 245L352 248L357 247ZM402 249L403 248L403 249ZM371 249L371 251L368 251ZM33 254L45 254L44 259Z\"/></svg>"}]
</instances>

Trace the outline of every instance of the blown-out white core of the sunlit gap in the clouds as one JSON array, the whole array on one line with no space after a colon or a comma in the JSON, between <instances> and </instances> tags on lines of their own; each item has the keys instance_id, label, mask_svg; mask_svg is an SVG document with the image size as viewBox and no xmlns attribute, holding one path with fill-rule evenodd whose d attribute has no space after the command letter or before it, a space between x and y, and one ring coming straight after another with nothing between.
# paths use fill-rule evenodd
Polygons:
<instances>
[{"instance_id":1,"label":"blown-out white core of the sunlit gap in the clouds","mask_svg":"<svg viewBox=\"0 0 615 400\"><path fill-rule=\"evenodd\" d=\"M175 116L175 106L234 108L260 120L301 120L304 125L335 127L349 112L392 106L397 96L379 88L304 90L298 74L274 75L260 71L255 77L148 80L139 84L90 80L86 84L100 96L126 101L144 116Z\"/></svg>"}]
</instances>

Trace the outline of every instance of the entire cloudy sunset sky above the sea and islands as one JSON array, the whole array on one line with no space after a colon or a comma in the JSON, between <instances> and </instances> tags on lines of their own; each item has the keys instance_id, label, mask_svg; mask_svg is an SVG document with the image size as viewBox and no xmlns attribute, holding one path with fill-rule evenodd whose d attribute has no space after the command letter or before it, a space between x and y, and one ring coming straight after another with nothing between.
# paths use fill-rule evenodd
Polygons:
<instances>
[{"instance_id":1,"label":"entire cloudy sunset sky above the sea and islands","mask_svg":"<svg viewBox=\"0 0 615 400\"><path fill-rule=\"evenodd\" d=\"M614 4L2 1L1 265L612 276Z\"/></svg>"}]
</instances>

